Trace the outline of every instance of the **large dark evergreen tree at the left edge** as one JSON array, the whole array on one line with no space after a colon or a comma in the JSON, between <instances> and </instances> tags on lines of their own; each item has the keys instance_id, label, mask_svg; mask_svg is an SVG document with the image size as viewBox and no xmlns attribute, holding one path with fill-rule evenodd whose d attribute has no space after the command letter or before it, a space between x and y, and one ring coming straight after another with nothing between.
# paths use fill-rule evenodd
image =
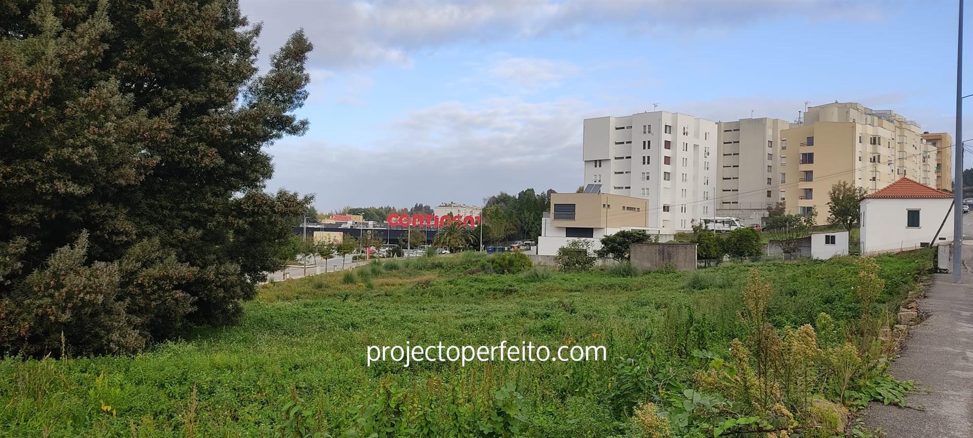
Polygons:
<instances>
[{"instance_id":1,"label":"large dark evergreen tree at the left edge","mask_svg":"<svg viewBox=\"0 0 973 438\"><path fill-rule=\"evenodd\" d=\"M0 5L0 354L133 351L234 320L308 199L265 192L304 33L258 75L234 1Z\"/></svg>"}]
</instances>

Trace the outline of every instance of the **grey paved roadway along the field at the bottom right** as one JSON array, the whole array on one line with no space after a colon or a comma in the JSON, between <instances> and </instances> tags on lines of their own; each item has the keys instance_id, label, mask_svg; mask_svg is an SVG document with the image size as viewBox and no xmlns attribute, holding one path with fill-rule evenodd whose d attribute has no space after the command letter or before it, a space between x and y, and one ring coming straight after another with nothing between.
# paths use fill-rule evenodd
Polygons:
<instances>
[{"instance_id":1,"label":"grey paved roadway along the field at the bottom right","mask_svg":"<svg viewBox=\"0 0 973 438\"><path fill-rule=\"evenodd\" d=\"M973 213L964 215L963 231L973 235ZM964 240L963 264L960 284L935 274L919 302L923 320L889 369L919 384L907 399L912 408L873 404L866 411L866 426L889 438L973 437L973 240Z\"/></svg>"}]
</instances>

